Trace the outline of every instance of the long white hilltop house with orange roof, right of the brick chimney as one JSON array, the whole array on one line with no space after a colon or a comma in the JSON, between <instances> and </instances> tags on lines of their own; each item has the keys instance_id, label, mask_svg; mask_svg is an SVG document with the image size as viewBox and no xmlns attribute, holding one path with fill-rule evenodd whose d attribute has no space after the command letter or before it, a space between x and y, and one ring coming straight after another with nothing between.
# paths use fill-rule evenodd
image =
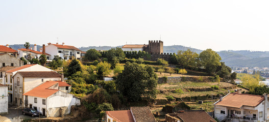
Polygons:
<instances>
[{"instance_id":1,"label":"long white hilltop house with orange roof, right of the brick chimney","mask_svg":"<svg viewBox=\"0 0 269 122\"><path fill-rule=\"evenodd\" d=\"M42 49L40 49L40 52L41 51ZM69 60L72 58L80 60L81 58L80 49L74 46L65 45L64 43L62 45L59 45L58 43L56 44L48 43L48 45L45 46L45 52L50 54L50 59L53 59L54 55L59 55L59 57L65 60Z\"/></svg>"}]
</instances>

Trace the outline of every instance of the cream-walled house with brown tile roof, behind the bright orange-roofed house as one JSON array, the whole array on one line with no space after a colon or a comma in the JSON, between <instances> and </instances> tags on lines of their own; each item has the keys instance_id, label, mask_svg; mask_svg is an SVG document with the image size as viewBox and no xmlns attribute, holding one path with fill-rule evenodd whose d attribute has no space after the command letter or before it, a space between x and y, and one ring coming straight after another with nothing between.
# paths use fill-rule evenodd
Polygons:
<instances>
[{"instance_id":1,"label":"cream-walled house with brown tile roof, behind the bright orange-roofed house","mask_svg":"<svg viewBox=\"0 0 269 122\"><path fill-rule=\"evenodd\" d=\"M62 79L61 74L55 71L18 71L13 77L13 105L28 107L25 101L25 96L22 94L29 92L36 86L45 81L59 81Z\"/></svg>"}]
</instances>

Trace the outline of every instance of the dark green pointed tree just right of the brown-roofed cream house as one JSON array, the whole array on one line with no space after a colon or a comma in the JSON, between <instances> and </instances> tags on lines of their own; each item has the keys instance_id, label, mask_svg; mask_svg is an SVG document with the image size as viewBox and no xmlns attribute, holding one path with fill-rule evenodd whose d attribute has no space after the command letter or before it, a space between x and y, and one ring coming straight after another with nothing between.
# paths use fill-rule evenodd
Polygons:
<instances>
[{"instance_id":1,"label":"dark green pointed tree just right of the brown-roofed cream house","mask_svg":"<svg viewBox=\"0 0 269 122\"><path fill-rule=\"evenodd\" d=\"M71 76L72 74L75 74L78 71L82 71L80 62L76 58L72 59L72 61L67 67L66 76Z\"/></svg>"}]
</instances>

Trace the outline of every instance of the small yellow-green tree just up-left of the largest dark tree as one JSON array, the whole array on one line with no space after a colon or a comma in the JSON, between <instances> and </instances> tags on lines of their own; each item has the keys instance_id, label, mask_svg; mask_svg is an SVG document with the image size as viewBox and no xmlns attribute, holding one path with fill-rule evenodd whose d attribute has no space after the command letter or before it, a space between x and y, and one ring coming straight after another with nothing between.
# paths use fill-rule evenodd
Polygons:
<instances>
[{"instance_id":1,"label":"small yellow-green tree just up-left of the largest dark tree","mask_svg":"<svg viewBox=\"0 0 269 122\"><path fill-rule=\"evenodd\" d=\"M110 67L111 65L107 62L100 62L96 66L96 74L99 77L99 79L103 80L105 75L108 75L110 73Z\"/></svg>"}]
</instances>

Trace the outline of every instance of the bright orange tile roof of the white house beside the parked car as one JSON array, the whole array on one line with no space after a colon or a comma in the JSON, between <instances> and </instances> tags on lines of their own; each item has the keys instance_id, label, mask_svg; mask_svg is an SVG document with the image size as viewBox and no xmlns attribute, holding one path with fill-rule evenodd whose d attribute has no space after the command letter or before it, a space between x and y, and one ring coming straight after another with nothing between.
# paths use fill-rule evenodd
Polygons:
<instances>
[{"instance_id":1,"label":"bright orange tile roof of the white house beside the parked car","mask_svg":"<svg viewBox=\"0 0 269 122\"><path fill-rule=\"evenodd\" d=\"M43 84L35 87L34 89L30 90L29 92L23 94L25 96L34 96L39 98L47 98L53 95L54 93L58 92L59 89L50 89L49 87L55 85L57 82L54 81L46 81ZM57 87L58 88L58 87Z\"/></svg>"}]
</instances>

